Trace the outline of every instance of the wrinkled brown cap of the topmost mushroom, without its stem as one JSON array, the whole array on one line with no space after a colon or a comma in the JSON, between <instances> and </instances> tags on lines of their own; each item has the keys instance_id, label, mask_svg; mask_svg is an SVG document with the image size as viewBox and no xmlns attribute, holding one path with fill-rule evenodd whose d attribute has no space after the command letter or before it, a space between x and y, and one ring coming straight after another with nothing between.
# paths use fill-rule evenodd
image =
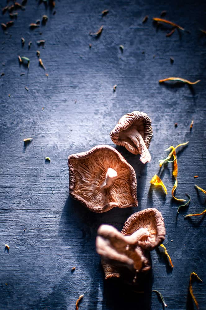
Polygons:
<instances>
[{"instance_id":1,"label":"wrinkled brown cap of the topmost mushroom, without its stem","mask_svg":"<svg viewBox=\"0 0 206 310\"><path fill-rule=\"evenodd\" d=\"M153 136L151 123L151 119L146 113L133 111L120 118L117 125L110 132L110 137L114 144L124 146L133 154L140 154L134 140L130 139L129 136L135 135L138 131L145 142L146 148L149 148Z\"/></svg>"}]
</instances>

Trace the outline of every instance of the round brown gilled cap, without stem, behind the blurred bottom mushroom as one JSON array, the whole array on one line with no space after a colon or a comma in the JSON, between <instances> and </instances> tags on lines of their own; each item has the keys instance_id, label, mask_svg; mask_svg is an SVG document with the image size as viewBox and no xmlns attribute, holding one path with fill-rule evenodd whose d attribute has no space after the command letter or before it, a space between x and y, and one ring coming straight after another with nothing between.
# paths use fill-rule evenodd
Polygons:
<instances>
[{"instance_id":1,"label":"round brown gilled cap, without stem, behind the blurred bottom mushroom","mask_svg":"<svg viewBox=\"0 0 206 310\"><path fill-rule=\"evenodd\" d=\"M122 229L124 235L134 234L141 228L146 228L148 236L143 236L137 240L137 245L144 250L153 250L159 246L165 238L164 219L161 212L155 208L148 208L133 213L125 222Z\"/></svg>"}]
</instances>

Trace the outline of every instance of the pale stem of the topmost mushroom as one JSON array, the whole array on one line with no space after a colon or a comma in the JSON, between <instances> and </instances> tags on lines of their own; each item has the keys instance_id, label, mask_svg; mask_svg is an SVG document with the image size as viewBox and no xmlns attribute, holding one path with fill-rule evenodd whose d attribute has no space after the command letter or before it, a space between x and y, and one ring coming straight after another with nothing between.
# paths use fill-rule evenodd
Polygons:
<instances>
[{"instance_id":1,"label":"pale stem of the topmost mushroom","mask_svg":"<svg viewBox=\"0 0 206 310\"><path fill-rule=\"evenodd\" d=\"M143 164L146 162L150 162L151 155L145 145L145 141L142 138L142 135L139 133L139 131L135 130L135 132L131 132L131 135L129 136L132 142L137 146L138 151L141 155L140 160Z\"/></svg>"}]
</instances>

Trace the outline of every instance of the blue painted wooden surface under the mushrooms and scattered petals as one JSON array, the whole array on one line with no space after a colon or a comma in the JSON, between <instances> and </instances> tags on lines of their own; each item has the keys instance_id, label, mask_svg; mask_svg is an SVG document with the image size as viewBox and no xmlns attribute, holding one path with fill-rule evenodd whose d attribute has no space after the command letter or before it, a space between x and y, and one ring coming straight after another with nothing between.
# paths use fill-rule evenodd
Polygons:
<instances>
[{"instance_id":1,"label":"blue painted wooden surface under the mushrooms and scattered petals","mask_svg":"<svg viewBox=\"0 0 206 310\"><path fill-rule=\"evenodd\" d=\"M1 1L1 7L6 4ZM191 0L57 0L52 10L41 1L28 1L8 34L0 31L0 73L5 73L0 78L1 310L75 309L80 294L84 298L79 309L162 309L151 289L162 292L169 309L193 309L187 298L192 271L203 280L194 282L193 289L199 308L206 309L205 218L183 217L206 208L205 195L194 188L196 183L206 189L206 36L199 31L206 29L205 8L202 1ZM104 9L109 13L102 17ZM167 38L171 27L152 22L162 10L167 10L166 19L191 33L176 31ZM47 24L29 29L43 14L48 15ZM142 24L145 15L149 19ZM6 12L1 22L8 20ZM101 36L91 37L101 25ZM40 39L46 41L44 48L36 44ZM46 71L38 64L37 49ZM19 65L18 55L30 58L29 70ZM194 87L158 83L169 76L201 82ZM133 110L151 117L154 132L147 165L117 147L136 171L139 206L94 214L69 198L67 157L96 144L114 146L109 132ZM23 139L30 136L33 141L24 148ZM167 155L164 149L187 140L188 147L178 153L176 195L190 194L191 202L176 219L180 204L171 199L171 164L161 175L167 197L149 182L159 170L158 160ZM95 238L100 224L120 230L132 212L146 207L163 214L164 244L174 268L159 251L151 252L152 272L144 294L137 294L118 282L104 281Z\"/></svg>"}]
</instances>

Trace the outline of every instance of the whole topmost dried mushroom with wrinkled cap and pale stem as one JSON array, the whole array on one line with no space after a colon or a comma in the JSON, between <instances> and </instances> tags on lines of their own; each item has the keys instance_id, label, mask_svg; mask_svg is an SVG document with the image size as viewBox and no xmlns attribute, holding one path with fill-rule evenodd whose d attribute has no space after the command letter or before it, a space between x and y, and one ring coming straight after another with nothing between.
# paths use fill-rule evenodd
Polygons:
<instances>
[{"instance_id":1,"label":"whole topmost dried mushroom with wrinkled cap and pale stem","mask_svg":"<svg viewBox=\"0 0 206 310\"><path fill-rule=\"evenodd\" d=\"M110 132L114 144L124 146L132 154L140 154L143 164L151 160L148 148L152 136L150 117L139 111L133 111L121 117Z\"/></svg>"}]
</instances>

